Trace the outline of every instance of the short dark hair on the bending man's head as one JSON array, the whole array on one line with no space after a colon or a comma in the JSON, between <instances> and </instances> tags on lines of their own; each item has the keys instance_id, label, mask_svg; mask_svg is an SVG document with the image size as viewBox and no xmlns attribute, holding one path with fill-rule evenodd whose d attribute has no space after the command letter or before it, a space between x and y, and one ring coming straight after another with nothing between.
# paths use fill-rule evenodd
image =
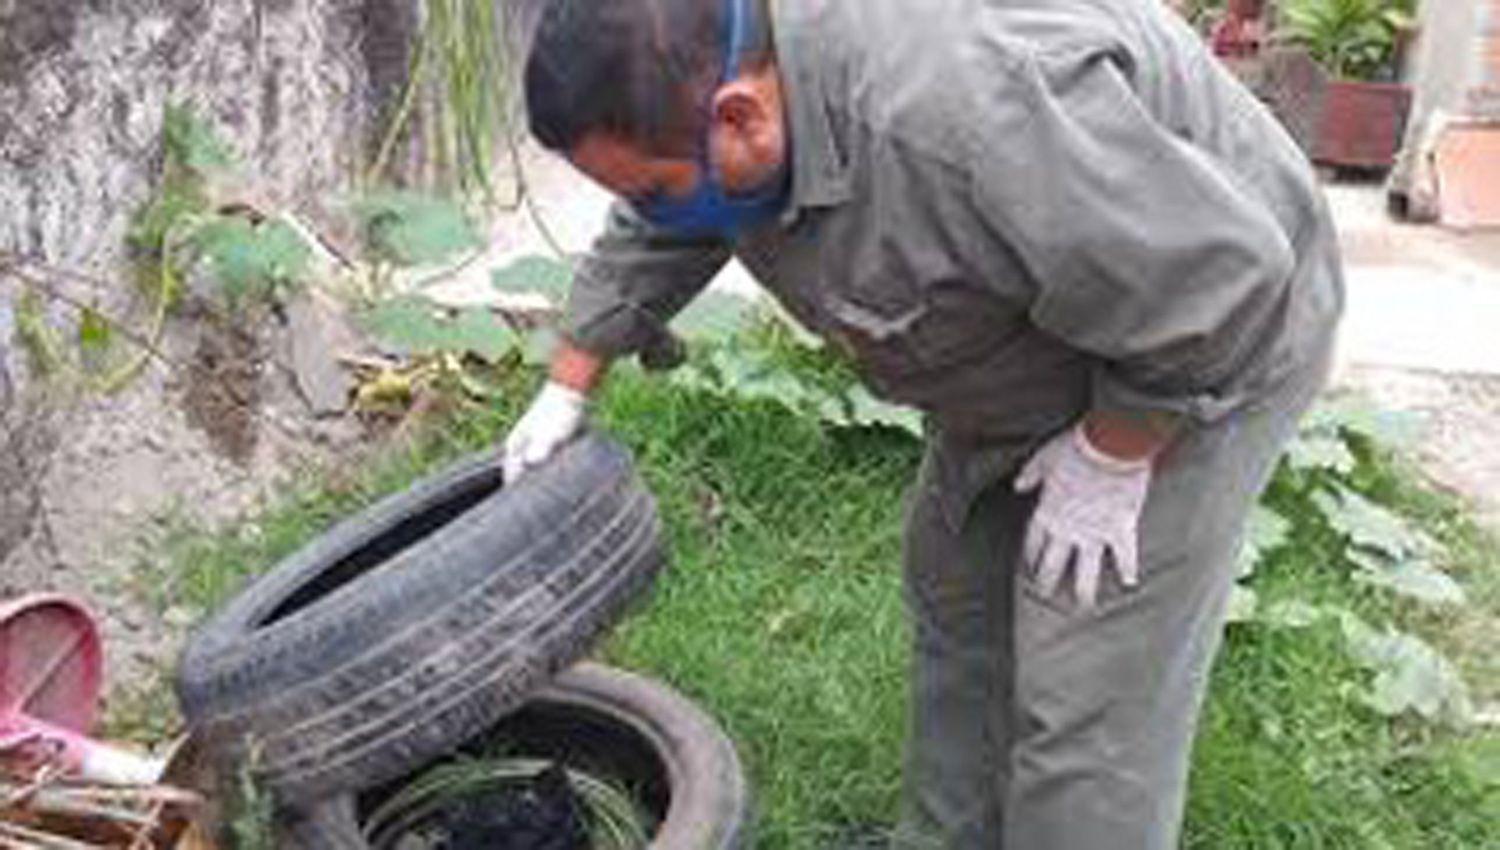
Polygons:
<instances>
[{"instance_id":1,"label":"short dark hair on the bending man's head","mask_svg":"<svg viewBox=\"0 0 1500 850\"><path fill-rule=\"evenodd\" d=\"M558 151L608 132L654 153L694 153L734 1L752 4L742 66L766 61L765 0L546 0L525 72L532 135Z\"/></svg>"}]
</instances>

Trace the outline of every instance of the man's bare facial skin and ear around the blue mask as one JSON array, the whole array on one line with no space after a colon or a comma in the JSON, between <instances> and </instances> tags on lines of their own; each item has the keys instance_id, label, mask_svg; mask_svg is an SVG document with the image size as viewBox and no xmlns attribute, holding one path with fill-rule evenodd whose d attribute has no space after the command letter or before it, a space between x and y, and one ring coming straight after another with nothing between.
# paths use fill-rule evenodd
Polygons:
<instances>
[{"instance_id":1,"label":"man's bare facial skin and ear around the blue mask","mask_svg":"<svg viewBox=\"0 0 1500 850\"><path fill-rule=\"evenodd\" d=\"M784 172L788 132L776 66L722 85L712 112L708 153L726 192L753 193ZM568 160L627 201L687 198L702 180L698 157L657 154L606 132L584 136Z\"/></svg>"}]
</instances>

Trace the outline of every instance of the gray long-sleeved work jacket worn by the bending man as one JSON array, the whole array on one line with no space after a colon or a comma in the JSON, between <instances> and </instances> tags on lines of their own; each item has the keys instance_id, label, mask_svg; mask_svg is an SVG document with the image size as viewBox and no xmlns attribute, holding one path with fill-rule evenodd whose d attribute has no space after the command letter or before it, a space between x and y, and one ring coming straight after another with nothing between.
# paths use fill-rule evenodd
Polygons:
<instances>
[{"instance_id":1,"label":"gray long-sleeved work jacket worn by the bending man","mask_svg":"<svg viewBox=\"0 0 1500 850\"><path fill-rule=\"evenodd\" d=\"M616 205L564 330L621 355L738 256L976 492L1090 408L1214 427L1342 307L1316 175L1160 0L778 0L784 216L730 241Z\"/></svg>"}]
</instances>

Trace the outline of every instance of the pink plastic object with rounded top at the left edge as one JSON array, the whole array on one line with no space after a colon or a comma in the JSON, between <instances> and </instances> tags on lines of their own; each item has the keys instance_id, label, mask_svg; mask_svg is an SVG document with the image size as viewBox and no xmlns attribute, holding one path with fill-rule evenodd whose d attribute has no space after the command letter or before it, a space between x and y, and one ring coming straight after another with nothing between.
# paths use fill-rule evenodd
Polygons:
<instances>
[{"instance_id":1,"label":"pink plastic object with rounded top at the left edge","mask_svg":"<svg viewBox=\"0 0 1500 850\"><path fill-rule=\"evenodd\" d=\"M0 603L0 762L153 781L153 762L87 736L102 684L104 651L88 609L58 595Z\"/></svg>"}]
</instances>

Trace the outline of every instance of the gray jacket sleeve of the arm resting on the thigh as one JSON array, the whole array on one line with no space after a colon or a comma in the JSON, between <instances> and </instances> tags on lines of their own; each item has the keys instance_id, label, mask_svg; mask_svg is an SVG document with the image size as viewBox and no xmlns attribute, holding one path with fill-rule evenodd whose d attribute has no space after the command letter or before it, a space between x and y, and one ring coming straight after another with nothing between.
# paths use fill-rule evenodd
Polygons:
<instances>
[{"instance_id":1,"label":"gray jacket sleeve of the arm resting on the thigh","mask_svg":"<svg viewBox=\"0 0 1500 850\"><path fill-rule=\"evenodd\" d=\"M974 180L1034 280L1034 324L1098 357L1100 409L1208 423L1240 406L1294 268L1270 207L1156 121L1110 55L1028 55L1008 70Z\"/></svg>"}]
</instances>

